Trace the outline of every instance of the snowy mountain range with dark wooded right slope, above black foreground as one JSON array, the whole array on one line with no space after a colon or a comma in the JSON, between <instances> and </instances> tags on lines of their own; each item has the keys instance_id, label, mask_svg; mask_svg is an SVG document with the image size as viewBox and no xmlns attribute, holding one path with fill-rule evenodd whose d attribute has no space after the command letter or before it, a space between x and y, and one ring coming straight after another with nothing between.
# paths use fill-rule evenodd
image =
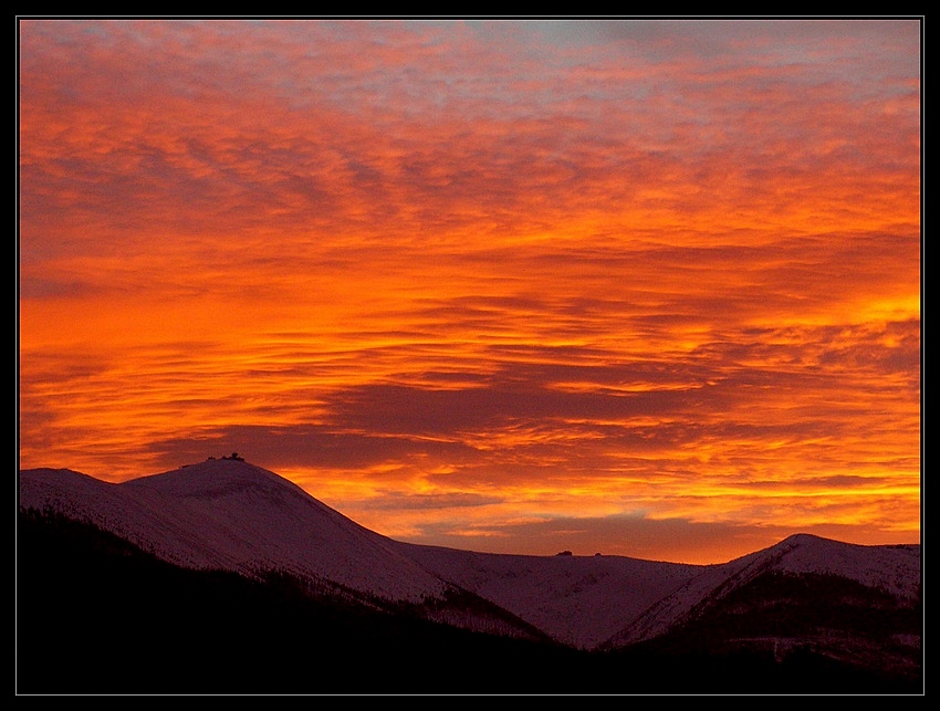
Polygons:
<instances>
[{"instance_id":1,"label":"snowy mountain range with dark wooded right slope, above black foreground","mask_svg":"<svg viewBox=\"0 0 940 711\"><path fill-rule=\"evenodd\" d=\"M19 505L85 522L182 569L255 582L286 575L332 600L604 655L606 663L619 655L640 668L637 650L694 659L699 669L702 655L780 665L808 654L840 668L888 669L906 688L922 678L918 544L797 534L714 565L416 545L365 529L241 458L118 484L23 470Z\"/></svg>"}]
</instances>

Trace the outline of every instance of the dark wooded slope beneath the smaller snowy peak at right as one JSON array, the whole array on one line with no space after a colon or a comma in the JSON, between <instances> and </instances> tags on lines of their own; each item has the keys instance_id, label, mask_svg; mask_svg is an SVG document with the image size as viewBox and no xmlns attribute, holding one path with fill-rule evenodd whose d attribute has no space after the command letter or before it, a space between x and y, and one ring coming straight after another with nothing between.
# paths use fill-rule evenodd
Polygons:
<instances>
[{"instance_id":1,"label":"dark wooded slope beneath the smaller snowy peak at right","mask_svg":"<svg viewBox=\"0 0 940 711\"><path fill-rule=\"evenodd\" d=\"M723 666L748 670L755 686L773 670L800 679L807 691L916 692L922 687L922 627L921 600L901 604L835 575L765 573L627 656L686 660L702 688L724 688L727 679L713 673Z\"/></svg>"}]
</instances>

